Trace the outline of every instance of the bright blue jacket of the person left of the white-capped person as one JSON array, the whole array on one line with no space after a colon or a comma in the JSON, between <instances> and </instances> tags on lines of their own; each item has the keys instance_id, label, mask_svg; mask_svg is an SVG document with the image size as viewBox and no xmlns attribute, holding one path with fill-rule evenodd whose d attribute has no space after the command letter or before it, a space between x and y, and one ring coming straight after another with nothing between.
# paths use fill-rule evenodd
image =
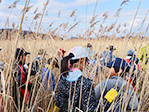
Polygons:
<instances>
[{"instance_id":1,"label":"bright blue jacket of the person left of the white-capped person","mask_svg":"<svg viewBox=\"0 0 149 112\"><path fill-rule=\"evenodd\" d=\"M47 73L47 74L46 74ZM48 81L49 81L49 85L51 86L52 90L54 91L55 89L55 80L54 80L54 75L53 73L51 73L51 79L49 79L49 74L50 74L50 69L49 68L46 68L44 67L42 69L42 74L41 74L41 82L43 82L44 80L44 88L46 89L48 87ZM44 79L45 75L47 75L47 77Z\"/></svg>"}]
</instances>

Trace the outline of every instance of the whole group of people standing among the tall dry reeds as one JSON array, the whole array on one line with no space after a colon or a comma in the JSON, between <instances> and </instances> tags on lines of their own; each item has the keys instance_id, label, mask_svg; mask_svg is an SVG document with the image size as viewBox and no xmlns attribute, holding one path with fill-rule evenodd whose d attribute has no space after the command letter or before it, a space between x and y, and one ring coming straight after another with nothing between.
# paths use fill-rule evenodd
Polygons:
<instances>
[{"instance_id":1,"label":"whole group of people standing among the tall dry reeds","mask_svg":"<svg viewBox=\"0 0 149 112\"><path fill-rule=\"evenodd\" d=\"M40 49L37 58L32 63L26 64L26 56L30 53L23 48L17 48L13 64L12 87L16 107L21 109L23 100L34 103L34 98L31 100L34 83L29 77L36 76L41 82L37 89L42 86L43 91L54 93L55 107L59 112L137 109L139 100L135 94L135 85L140 72L148 63L149 44L141 49L139 58L134 50L128 50L127 57L121 59L114 56L114 50L116 48L112 45L107 47L98 59L93 52L93 46L88 43L86 48L73 47L67 56L65 50L59 49L57 57L46 60L46 51ZM139 65L139 59L143 61L143 67ZM94 79L85 77L84 71L91 63L95 66L99 65L97 72L106 73L106 79L96 86L93 83ZM31 71L28 76L29 68ZM57 87L55 80L58 83ZM26 87L27 92L24 96Z\"/></svg>"}]
</instances>

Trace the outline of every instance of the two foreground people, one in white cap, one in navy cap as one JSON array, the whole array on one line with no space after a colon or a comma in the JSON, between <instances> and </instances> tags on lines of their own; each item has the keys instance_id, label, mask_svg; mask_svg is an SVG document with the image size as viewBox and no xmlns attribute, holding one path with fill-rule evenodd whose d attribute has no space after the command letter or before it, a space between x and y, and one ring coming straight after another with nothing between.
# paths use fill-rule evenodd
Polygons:
<instances>
[{"instance_id":1,"label":"two foreground people, one in white cap, one in navy cap","mask_svg":"<svg viewBox=\"0 0 149 112\"><path fill-rule=\"evenodd\" d=\"M121 111L125 107L127 110L135 110L138 106L138 98L134 94L133 86L125 80L130 70L129 63L121 58L104 63L105 70L109 71L107 79L94 88L92 80L84 77L83 74L90 60L87 50L80 46L72 48L69 55L62 59L62 75L58 82L55 100L59 111L77 109L83 112Z\"/></svg>"}]
</instances>

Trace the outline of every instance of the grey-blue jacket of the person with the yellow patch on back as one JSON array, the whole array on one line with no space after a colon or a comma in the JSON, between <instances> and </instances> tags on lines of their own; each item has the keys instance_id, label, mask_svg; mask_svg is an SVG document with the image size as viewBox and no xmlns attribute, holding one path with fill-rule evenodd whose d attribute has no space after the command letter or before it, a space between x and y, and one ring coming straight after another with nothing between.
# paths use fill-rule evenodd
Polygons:
<instances>
[{"instance_id":1,"label":"grey-blue jacket of the person with the yellow patch on back","mask_svg":"<svg viewBox=\"0 0 149 112\"><path fill-rule=\"evenodd\" d=\"M115 99L122 98L121 102L119 102L115 105L115 110L119 111L119 108L122 107L122 104L123 104L122 102L128 102L128 101L129 101L129 103L127 106L127 110L131 110L134 98L135 98L135 101L134 101L133 109L135 110L138 107L138 98L137 98L137 96L134 95L133 87L130 85L130 88L127 90L127 97L124 99L123 95L124 95L126 86L127 86L127 81L125 81L122 77L112 76L111 79L106 79L96 86L96 88L95 88L96 100L99 102L99 100L101 98L101 90L103 90L103 88L105 88L104 93L103 93L103 103L105 104L105 111L107 111L112 102L109 103L105 96L113 88L118 93L118 95L117 95L117 97L115 97ZM130 100L128 100L129 98L130 98ZM115 101L115 100L113 100L113 101ZM120 100L118 100L118 101L120 101Z\"/></svg>"}]
</instances>

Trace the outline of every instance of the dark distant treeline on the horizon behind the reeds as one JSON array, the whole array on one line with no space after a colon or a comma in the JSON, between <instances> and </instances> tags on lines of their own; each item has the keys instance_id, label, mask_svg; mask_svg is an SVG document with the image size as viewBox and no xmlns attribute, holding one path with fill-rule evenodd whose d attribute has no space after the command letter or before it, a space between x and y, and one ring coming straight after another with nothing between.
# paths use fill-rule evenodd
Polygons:
<instances>
[{"instance_id":1,"label":"dark distant treeline on the horizon behind the reeds","mask_svg":"<svg viewBox=\"0 0 149 112\"><path fill-rule=\"evenodd\" d=\"M16 29L0 29L0 39L4 39L4 40L7 40L7 39L14 39L17 35L17 32L18 30ZM55 40L63 40L63 37L59 37L57 35L52 35L52 38L55 39ZM28 30L22 30L20 32L20 39L27 39L27 38L30 38L30 39L35 39L35 38L40 38L40 39L46 39L46 38L50 38L49 35L47 34L43 34L43 33L34 33L34 32L31 32L31 31L28 31ZM71 38L67 38L70 39L70 40L76 40L76 39L89 39L89 40L94 40L94 39L99 39L99 38L104 38L104 39L107 39L107 38L116 38L116 39L124 39L125 37L124 36L121 36L121 37L115 37L115 36L106 36L106 35L102 35L100 37L94 37L94 38L91 38L91 37L88 37L88 38L83 38L83 37L71 37ZM133 39L133 38L136 38L136 36L130 36L129 39ZM141 39L145 38L145 37L140 37Z\"/></svg>"}]
</instances>

